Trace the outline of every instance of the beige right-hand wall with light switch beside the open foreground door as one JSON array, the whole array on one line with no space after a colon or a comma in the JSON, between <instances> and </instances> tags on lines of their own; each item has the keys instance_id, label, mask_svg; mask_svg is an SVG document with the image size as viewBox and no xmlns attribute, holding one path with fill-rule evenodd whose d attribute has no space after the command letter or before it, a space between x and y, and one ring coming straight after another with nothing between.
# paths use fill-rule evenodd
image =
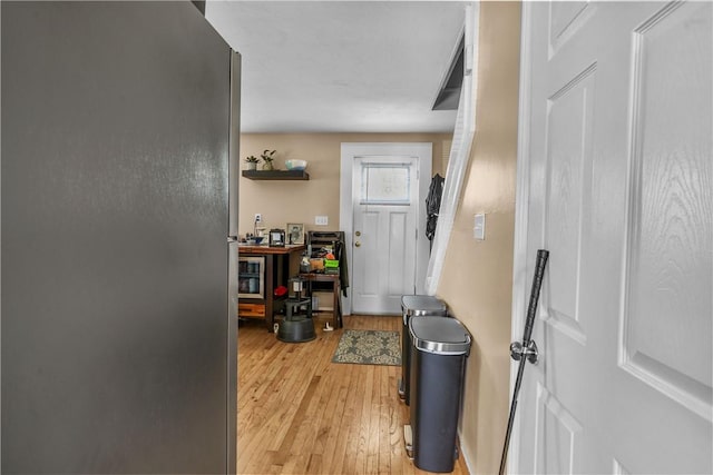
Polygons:
<instances>
[{"instance_id":1,"label":"beige right-hand wall with light switch beside the open foreground door","mask_svg":"<svg viewBox=\"0 0 713 475\"><path fill-rule=\"evenodd\" d=\"M509 410L520 4L481 2L479 28L476 138L437 294L473 336L460 442L471 472L492 474Z\"/></svg>"}]
</instances>

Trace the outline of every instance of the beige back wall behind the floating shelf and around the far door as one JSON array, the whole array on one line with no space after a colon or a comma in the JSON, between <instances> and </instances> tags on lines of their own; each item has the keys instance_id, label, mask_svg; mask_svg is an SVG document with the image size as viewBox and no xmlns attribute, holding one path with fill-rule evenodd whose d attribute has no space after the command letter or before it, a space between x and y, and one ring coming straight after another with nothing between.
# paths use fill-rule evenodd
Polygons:
<instances>
[{"instance_id":1,"label":"beige back wall behind the floating shelf and around the far door","mask_svg":"<svg viewBox=\"0 0 713 475\"><path fill-rule=\"evenodd\" d=\"M305 230L339 229L339 177L342 142L432 142L433 174L442 166L443 142L450 133L243 133L241 167L250 155L264 149L277 150L275 167L285 169L286 159L307 160L309 181L254 181L241 177L241 235L253 231L255 212L262 212L263 226L284 228L286 222L303 222ZM262 165L262 164L261 164ZM329 217L329 226L315 226L314 217Z\"/></svg>"}]
</instances>

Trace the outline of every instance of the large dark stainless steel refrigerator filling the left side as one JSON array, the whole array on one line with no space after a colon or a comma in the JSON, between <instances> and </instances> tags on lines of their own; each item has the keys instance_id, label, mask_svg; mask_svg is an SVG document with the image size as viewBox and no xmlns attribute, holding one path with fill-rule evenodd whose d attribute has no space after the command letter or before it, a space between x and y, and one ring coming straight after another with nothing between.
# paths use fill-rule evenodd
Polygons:
<instances>
[{"instance_id":1,"label":"large dark stainless steel refrigerator filling the left side","mask_svg":"<svg viewBox=\"0 0 713 475\"><path fill-rule=\"evenodd\" d=\"M1 467L232 473L240 57L191 2L7 2Z\"/></svg>"}]
</instances>

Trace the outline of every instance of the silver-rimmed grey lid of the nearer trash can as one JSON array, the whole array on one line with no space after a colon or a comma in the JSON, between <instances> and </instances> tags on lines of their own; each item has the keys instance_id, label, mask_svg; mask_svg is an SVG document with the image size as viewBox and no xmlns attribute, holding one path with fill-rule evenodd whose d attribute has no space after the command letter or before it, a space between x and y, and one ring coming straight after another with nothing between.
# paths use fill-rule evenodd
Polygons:
<instances>
[{"instance_id":1,"label":"silver-rimmed grey lid of the nearer trash can","mask_svg":"<svg viewBox=\"0 0 713 475\"><path fill-rule=\"evenodd\" d=\"M421 352L436 355L468 355L470 334L455 318L427 316L411 318L409 330L413 346Z\"/></svg>"}]
</instances>

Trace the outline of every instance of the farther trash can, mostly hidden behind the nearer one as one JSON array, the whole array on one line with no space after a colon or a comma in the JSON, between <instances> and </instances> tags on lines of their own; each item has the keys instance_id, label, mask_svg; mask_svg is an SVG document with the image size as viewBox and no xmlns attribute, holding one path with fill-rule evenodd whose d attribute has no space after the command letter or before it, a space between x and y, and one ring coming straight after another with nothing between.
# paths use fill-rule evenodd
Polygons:
<instances>
[{"instance_id":1,"label":"farther trash can, mostly hidden behind the nearer one","mask_svg":"<svg viewBox=\"0 0 713 475\"><path fill-rule=\"evenodd\" d=\"M411 335L409 320L411 317L447 316L446 304L430 295L404 295L401 297L401 313L403 327L401 328L401 379L399 380L399 397L407 405L411 403Z\"/></svg>"}]
</instances>

